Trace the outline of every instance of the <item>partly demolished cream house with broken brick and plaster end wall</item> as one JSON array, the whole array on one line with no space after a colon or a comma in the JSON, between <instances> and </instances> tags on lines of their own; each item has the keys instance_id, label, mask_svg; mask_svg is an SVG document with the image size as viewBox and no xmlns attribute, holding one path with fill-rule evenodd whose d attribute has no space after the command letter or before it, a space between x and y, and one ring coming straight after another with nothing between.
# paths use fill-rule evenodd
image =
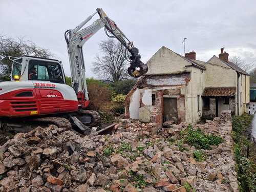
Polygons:
<instances>
[{"instance_id":1,"label":"partly demolished cream house with broken brick and plaster end wall","mask_svg":"<svg viewBox=\"0 0 256 192\"><path fill-rule=\"evenodd\" d=\"M236 104L242 76L226 63L211 60L198 61L195 52L184 57L162 47L146 63L147 74L127 94L126 116L162 127L195 122L202 115L218 117L223 110L242 115L243 106Z\"/></svg>"}]
</instances>

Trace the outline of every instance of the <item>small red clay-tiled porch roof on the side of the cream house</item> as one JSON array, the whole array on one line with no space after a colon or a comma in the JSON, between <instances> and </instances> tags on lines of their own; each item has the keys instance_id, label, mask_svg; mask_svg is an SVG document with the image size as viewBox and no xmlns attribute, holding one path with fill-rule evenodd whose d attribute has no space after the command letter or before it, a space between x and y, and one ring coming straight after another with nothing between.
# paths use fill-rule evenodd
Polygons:
<instances>
[{"instance_id":1,"label":"small red clay-tiled porch roof on the side of the cream house","mask_svg":"<svg viewBox=\"0 0 256 192\"><path fill-rule=\"evenodd\" d=\"M202 97L234 97L237 88L205 88Z\"/></svg>"}]
</instances>

